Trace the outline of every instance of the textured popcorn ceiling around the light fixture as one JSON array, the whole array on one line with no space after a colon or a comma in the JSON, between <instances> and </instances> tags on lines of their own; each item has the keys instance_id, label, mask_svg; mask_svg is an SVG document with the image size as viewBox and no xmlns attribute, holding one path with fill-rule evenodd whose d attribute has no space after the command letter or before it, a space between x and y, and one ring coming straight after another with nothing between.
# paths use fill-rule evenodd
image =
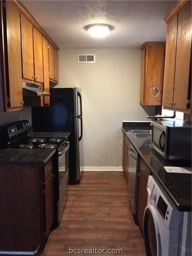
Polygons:
<instances>
[{"instance_id":1,"label":"textured popcorn ceiling around the light fixture","mask_svg":"<svg viewBox=\"0 0 192 256\"><path fill-rule=\"evenodd\" d=\"M21 1L60 48L138 48L164 41L164 16L177 1ZM91 37L84 27L106 23L106 38Z\"/></svg>"}]
</instances>

